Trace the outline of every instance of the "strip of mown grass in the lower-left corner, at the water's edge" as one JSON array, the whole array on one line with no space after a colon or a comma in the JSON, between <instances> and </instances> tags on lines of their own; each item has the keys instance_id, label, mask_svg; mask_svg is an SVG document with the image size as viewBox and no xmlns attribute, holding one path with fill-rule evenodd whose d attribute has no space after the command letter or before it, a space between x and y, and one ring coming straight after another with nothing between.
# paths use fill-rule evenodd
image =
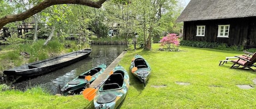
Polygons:
<instances>
[{"instance_id":1,"label":"strip of mown grass in the lower-left corner, at the water's edge","mask_svg":"<svg viewBox=\"0 0 256 109\"><path fill-rule=\"evenodd\" d=\"M0 97L0 108L84 108L88 103L80 96L53 96L40 87L26 92L1 91Z\"/></svg>"}]
</instances>

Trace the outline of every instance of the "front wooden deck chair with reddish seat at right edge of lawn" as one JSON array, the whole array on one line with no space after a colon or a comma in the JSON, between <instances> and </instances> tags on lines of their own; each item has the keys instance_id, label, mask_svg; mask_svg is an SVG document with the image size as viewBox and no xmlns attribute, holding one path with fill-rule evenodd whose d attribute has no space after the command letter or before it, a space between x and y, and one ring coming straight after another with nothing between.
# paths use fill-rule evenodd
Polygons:
<instances>
[{"instance_id":1,"label":"front wooden deck chair with reddish seat at right edge of lawn","mask_svg":"<svg viewBox=\"0 0 256 109\"><path fill-rule=\"evenodd\" d=\"M253 66L256 67L254 65L254 63L256 62L256 52L249 59L246 59L246 58L241 57L241 56L236 56L236 57L239 58L239 59L238 60L231 60L231 62L233 62L234 64L230 68L237 68L239 66L243 66L242 68L252 69L251 67L253 67ZM235 66L235 65L237 65L237 66Z\"/></svg>"}]
</instances>

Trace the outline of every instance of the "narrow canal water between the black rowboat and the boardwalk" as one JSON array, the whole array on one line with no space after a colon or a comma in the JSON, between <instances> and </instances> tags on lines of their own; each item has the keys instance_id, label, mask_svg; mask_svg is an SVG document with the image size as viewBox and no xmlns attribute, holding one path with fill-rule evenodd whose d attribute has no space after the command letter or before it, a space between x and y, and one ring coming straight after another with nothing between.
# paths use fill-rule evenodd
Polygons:
<instances>
[{"instance_id":1,"label":"narrow canal water between the black rowboat and the boardwalk","mask_svg":"<svg viewBox=\"0 0 256 109\"><path fill-rule=\"evenodd\" d=\"M51 72L37 78L30 80L17 81L13 84L13 87L17 89L25 90L29 87L41 86L52 94L59 93L59 89L62 88L67 82L73 80L79 74L86 72L87 70L96 67L102 63L107 66L120 55L126 48L125 45L91 45L92 53L86 59L74 63L73 65L58 69L55 72Z\"/></svg>"}]
</instances>

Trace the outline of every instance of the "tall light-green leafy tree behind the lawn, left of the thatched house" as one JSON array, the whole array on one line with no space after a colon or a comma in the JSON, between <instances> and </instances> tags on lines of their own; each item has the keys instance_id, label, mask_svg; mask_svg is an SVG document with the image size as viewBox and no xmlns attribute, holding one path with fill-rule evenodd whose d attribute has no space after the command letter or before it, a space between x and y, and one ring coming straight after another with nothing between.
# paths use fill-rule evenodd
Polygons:
<instances>
[{"instance_id":1,"label":"tall light-green leafy tree behind the lawn, left of the thatched house","mask_svg":"<svg viewBox=\"0 0 256 109\"><path fill-rule=\"evenodd\" d=\"M173 28L169 24L176 24L173 19L180 14L176 7L176 0L112 0L104 4L110 26L120 24L120 33L129 38L135 36L131 33L138 33L138 40L144 43L146 50L151 49L152 37L160 37L162 31Z\"/></svg>"}]
</instances>

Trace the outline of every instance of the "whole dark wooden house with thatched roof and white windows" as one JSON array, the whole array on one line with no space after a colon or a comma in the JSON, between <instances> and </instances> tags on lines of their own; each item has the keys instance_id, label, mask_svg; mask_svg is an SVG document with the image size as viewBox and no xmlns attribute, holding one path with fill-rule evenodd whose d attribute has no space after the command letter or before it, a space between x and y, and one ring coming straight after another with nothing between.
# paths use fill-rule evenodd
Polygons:
<instances>
[{"instance_id":1,"label":"whole dark wooden house with thatched roof and white windows","mask_svg":"<svg viewBox=\"0 0 256 109\"><path fill-rule=\"evenodd\" d=\"M176 21L183 40L256 47L255 0L191 0Z\"/></svg>"}]
</instances>

